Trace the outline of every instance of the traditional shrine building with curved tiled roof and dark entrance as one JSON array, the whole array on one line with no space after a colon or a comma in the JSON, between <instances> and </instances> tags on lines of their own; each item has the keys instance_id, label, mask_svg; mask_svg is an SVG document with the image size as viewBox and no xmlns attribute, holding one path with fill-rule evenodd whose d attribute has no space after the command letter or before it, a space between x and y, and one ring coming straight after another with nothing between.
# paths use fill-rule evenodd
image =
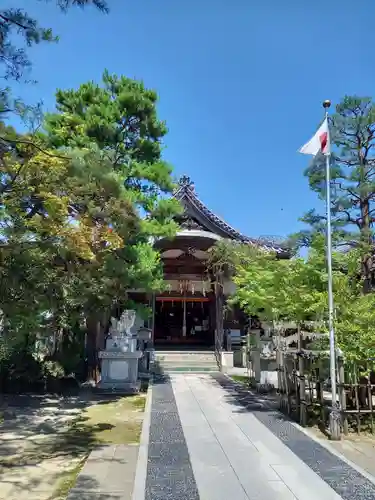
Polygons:
<instances>
[{"instance_id":1,"label":"traditional shrine building with curved tiled roof and dark entrance","mask_svg":"<svg viewBox=\"0 0 375 500\"><path fill-rule=\"evenodd\" d=\"M216 242L228 239L262 246L280 258L287 255L281 247L267 242L260 244L241 234L211 212L198 198L189 177L180 179L174 197L183 206L183 214L176 217L180 230L173 239L155 242L164 267L166 289L152 296L141 291L132 291L129 295L152 307L149 327L156 349L213 350L217 343L222 346L226 330L239 334L245 327L246 317L240 310L225 307L234 284L209 275L209 249ZM218 279L221 279L219 285Z\"/></svg>"}]
</instances>

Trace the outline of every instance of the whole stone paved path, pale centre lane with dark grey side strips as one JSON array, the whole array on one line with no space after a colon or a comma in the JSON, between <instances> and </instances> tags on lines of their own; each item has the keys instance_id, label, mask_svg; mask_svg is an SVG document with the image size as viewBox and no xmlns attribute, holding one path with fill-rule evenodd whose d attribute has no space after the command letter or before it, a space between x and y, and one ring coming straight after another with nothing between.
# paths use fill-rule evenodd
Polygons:
<instances>
[{"instance_id":1,"label":"whole stone paved path, pale centre lane with dark grey side strips","mask_svg":"<svg viewBox=\"0 0 375 500\"><path fill-rule=\"evenodd\" d=\"M223 375L156 380L133 500L370 500L375 484Z\"/></svg>"}]
</instances>

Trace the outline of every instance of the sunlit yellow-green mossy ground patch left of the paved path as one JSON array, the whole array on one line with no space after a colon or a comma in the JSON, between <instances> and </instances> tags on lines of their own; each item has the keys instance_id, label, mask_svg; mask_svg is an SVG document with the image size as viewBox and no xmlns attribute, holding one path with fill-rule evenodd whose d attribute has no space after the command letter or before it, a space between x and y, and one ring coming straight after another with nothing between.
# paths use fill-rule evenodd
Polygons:
<instances>
[{"instance_id":1,"label":"sunlit yellow-green mossy ground patch left of the paved path","mask_svg":"<svg viewBox=\"0 0 375 500\"><path fill-rule=\"evenodd\" d=\"M68 465L68 469L56 470L55 490L48 500L65 499L94 448L139 442L145 403L145 393L96 401L83 409L67 428L56 428L48 438L35 436L34 444L21 453L1 457L0 474L5 477L8 472L21 471L23 466L38 467L57 460L60 465ZM54 472L53 468L50 470L51 477Z\"/></svg>"}]
</instances>

